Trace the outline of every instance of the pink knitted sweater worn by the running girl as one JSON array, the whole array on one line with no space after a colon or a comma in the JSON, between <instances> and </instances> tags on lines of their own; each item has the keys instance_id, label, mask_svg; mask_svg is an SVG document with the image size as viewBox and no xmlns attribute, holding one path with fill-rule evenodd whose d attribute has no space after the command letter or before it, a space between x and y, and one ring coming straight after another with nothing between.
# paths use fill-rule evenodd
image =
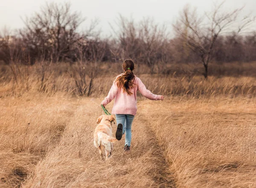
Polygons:
<instances>
[{"instance_id":1,"label":"pink knitted sweater worn by the running girl","mask_svg":"<svg viewBox=\"0 0 256 188\"><path fill-rule=\"evenodd\" d=\"M131 114L135 116L137 112L137 91L150 100L161 100L161 95L154 95L149 90L146 89L145 85L142 83L140 78L135 76L134 78L135 87L130 88L132 95L123 92L122 88L118 88L115 81L108 92L108 96L102 101L102 105L105 107L110 103L114 98L114 106L112 108L113 114Z\"/></svg>"}]
</instances>

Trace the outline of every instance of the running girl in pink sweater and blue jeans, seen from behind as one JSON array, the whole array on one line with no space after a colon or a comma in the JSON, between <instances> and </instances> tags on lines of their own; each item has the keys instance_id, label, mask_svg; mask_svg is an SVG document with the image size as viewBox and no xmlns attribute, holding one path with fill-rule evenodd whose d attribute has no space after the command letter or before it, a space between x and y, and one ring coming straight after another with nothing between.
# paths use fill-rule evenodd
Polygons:
<instances>
[{"instance_id":1,"label":"running girl in pink sweater and blue jeans, seen from behind","mask_svg":"<svg viewBox=\"0 0 256 188\"><path fill-rule=\"evenodd\" d=\"M127 59L123 62L122 68L125 73L118 75L108 93L102 101L103 107L115 98L112 114L116 115L116 139L120 140L125 133L125 148L130 150L131 146L131 124L137 112L137 91L150 100L162 100L163 95L154 95L146 89L140 78L134 75L134 62ZM124 126L123 126L124 125Z\"/></svg>"}]
</instances>

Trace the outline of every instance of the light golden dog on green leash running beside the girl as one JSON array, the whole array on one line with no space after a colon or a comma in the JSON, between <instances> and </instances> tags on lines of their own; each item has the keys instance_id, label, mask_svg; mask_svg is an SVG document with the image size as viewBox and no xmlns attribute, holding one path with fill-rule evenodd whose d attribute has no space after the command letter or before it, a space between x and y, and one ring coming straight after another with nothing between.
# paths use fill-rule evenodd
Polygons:
<instances>
[{"instance_id":1,"label":"light golden dog on green leash running beside the girl","mask_svg":"<svg viewBox=\"0 0 256 188\"><path fill-rule=\"evenodd\" d=\"M97 120L97 127L94 131L94 146L99 149L100 158L103 158L105 150L105 160L109 159L113 152L113 142L117 139L112 137L112 122L115 121L113 115L102 115Z\"/></svg>"}]
</instances>

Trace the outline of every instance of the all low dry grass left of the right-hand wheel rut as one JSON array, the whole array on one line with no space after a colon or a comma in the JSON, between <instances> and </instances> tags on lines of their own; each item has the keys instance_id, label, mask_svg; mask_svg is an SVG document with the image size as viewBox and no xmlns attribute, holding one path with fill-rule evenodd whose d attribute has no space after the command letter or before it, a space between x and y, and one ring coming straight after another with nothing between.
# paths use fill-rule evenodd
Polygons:
<instances>
[{"instance_id":1,"label":"all low dry grass left of the right-hand wheel rut","mask_svg":"<svg viewBox=\"0 0 256 188\"><path fill-rule=\"evenodd\" d=\"M42 95L0 99L0 187L172 187L173 175L154 134L139 118L133 124L133 150L123 151L123 138L108 162L100 159L93 146L99 103Z\"/></svg>"}]
</instances>

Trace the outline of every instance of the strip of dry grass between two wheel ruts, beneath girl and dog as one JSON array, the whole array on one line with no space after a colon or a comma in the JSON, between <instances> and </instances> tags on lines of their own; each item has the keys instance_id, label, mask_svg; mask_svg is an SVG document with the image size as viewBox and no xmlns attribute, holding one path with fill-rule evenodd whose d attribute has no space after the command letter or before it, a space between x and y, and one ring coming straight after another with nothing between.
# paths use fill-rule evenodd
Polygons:
<instances>
[{"instance_id":1,"label":"strip of dry grass between two wheel ruts, beneath girl and dog","mask_svg":"<svg viewBox=\"0 0 256 188\"><path fill-rule=\"evenodd\" d=\"M93 131L102 110L88 99L81 103L84 105L70 119L59 144L37 164L35 174L23 187L175 187L173 175L149 126L150 120L138 114L132 127L131 150L123 151L123 137L114 145L111 159L105 162L93 146ZM115 130L116 125L113 133Z\"/></svg>"}]
</instances>

